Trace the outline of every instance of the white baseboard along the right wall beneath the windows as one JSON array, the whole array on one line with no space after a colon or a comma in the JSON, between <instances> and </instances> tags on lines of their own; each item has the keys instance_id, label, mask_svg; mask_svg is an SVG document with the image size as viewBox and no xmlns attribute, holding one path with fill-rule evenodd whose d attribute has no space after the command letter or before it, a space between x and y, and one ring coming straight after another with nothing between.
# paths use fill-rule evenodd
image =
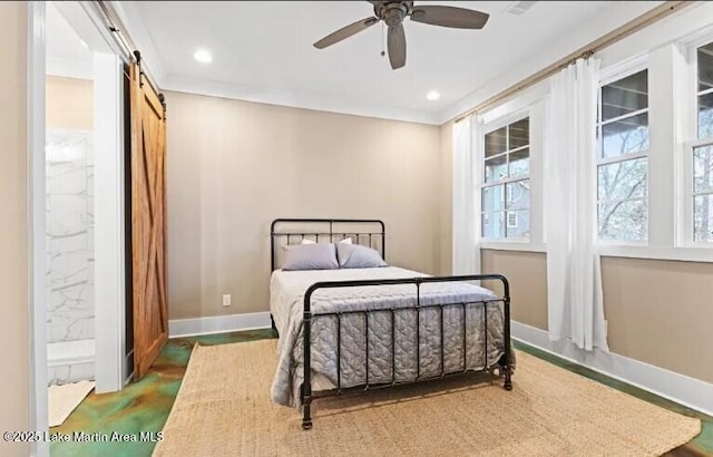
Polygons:
<instances>
[{"instance_id":1,"label":"white baseboard along the right wall beneath the windows","mask_svg":"<svg viewBox=\"0 0 713 457\"><path fill-rule=\"evenodd\" d=\"M511 330L518 341L713 416L711 383L613 352L586 352L570 341L550 341L545 330L520 322L512 321Z\"/></svg>"}]
</instances>

